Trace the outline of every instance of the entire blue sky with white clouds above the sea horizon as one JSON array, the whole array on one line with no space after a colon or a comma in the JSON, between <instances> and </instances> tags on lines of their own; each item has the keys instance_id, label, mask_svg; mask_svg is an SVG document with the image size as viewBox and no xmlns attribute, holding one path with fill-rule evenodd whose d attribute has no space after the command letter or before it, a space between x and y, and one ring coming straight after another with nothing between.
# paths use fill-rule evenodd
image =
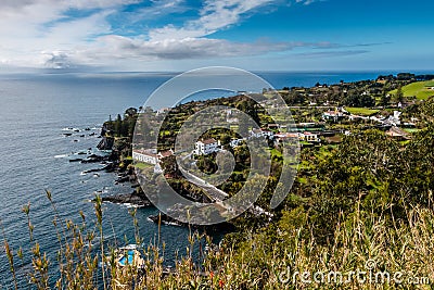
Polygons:
<instances>
[{"instance_id":1,"label":"entire blue sky with white clouds above the sea horizon","mask_svg":"<svg viewBox=\"0 0 434 290\"><path fill-rule=\"evenodd\" d=\"M2 0L0 70L433 70L433 13L427 0Z\"/></svg>"}]
</instances>

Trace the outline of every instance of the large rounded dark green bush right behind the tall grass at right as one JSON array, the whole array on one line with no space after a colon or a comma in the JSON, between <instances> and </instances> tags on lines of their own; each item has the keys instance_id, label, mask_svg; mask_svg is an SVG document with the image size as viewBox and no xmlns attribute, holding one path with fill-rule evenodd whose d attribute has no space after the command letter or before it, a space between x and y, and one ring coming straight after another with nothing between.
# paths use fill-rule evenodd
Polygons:
<instances>
[{"instance_id":1,"label":"large rounded dark green bush right behind the tall grass at right","mask_svg":"<svg viewBox=\"0 0 434 290\"><path fill-rule=\"evenodd\" d=\"M311 203L322 241L333 235L336 216L350 214L359 201L374 213L393 205L391 214L403 217L401 154L399 144L384 133L367 130L345 138L339 151L316 166Z\"/></svg>"}]
</instances>

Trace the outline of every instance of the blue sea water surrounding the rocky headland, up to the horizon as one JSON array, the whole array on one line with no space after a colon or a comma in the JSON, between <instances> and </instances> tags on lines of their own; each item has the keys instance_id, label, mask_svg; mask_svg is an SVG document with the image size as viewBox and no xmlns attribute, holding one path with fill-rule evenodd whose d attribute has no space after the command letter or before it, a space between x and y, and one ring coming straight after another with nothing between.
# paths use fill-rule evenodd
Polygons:
<instances>
[{"instance_id":1,"label":"blue sea water surrounding the rocky headland, up to the horizon","mask_svg":"<svg viewBox=\"0 0 434 290\"><path fill-rule=\"evenodd\" d=\"M264 73L261 76L276 88L312 86L375 78L380 73ZM384 74L384 73L382 73ZM63 128L99 128L104 121L123 113L129 106L140 106L146 97L174 74L105 74L105 75L0 75L0 220L1 227L16 252L20 247L24 261L15 259L20 289L27 288L26 272L31 269L28 259L29 236L21 209L30 202L34 236L41 250L55 262L58 242L52 225L53 210L44 190L52 192L62 218L79 222L79 211L87 220L95 217L88 201L94 192L101 194L131 192L130 185L115 185L115 174L80 175L95 164L69 163L72 152L94 150L95 136L65 137ZM98 130L92 130L98 133ZM74 142L77 139L77 142ZM104 232L107 243L125 245L124 237L133 241L133 226L125 205L104 204ZM148 220L155 209L138 210L140 235L145 242L157 240L157 226ZM165 257L182 254L188 244L188 229L163 226L161 240L166 243ZM95 245L98 247L98 244ZM4 250L0 245L0 289L12 287ZM53 276L52 281L55 280Z\"/></svg>"}]
</instances>

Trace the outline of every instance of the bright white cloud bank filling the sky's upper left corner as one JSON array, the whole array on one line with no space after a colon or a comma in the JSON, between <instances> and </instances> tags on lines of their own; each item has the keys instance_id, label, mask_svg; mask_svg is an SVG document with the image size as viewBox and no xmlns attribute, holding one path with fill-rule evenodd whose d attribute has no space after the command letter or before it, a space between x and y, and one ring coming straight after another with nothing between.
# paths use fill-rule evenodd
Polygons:
<instances>
[{"instance_id":1,"label":"bright white cloud bank filling the sky's upper left corner","mask_svg":"<svg viewBox=\"0 0 434 290\"><path fill-rule=\"evenodd\" d=\"M60 65L59 51L88 47L95 35L110 34L106 16L137 0L3 0L0 3L0 55L3 63L43 67ZM101 9L87 17L65 20L71 9ZM63 59L71 53L62 52ZM53 56L54 55L54 56Z\"/></svg>"}]
</instances>

